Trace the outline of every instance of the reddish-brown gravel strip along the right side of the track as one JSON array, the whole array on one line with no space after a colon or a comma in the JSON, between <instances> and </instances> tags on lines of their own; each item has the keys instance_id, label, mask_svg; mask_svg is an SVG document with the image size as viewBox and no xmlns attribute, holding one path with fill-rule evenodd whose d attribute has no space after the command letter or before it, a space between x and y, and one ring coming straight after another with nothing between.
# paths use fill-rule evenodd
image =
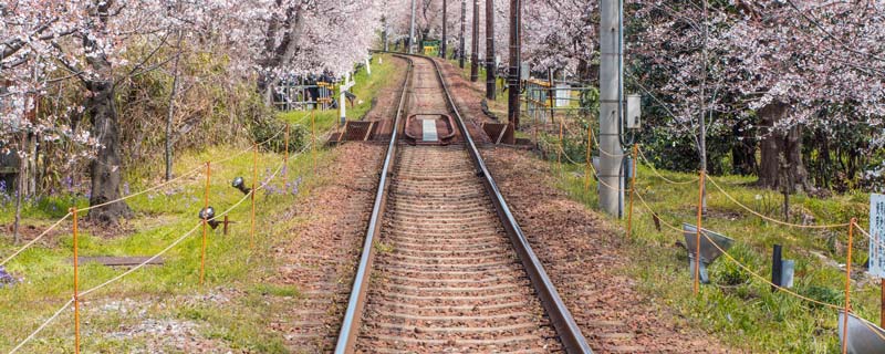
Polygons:
<instances>
[{"instance_id":1,"label":"reddish-brown gravel strip along the right side of the track","mask_svg":"<svg viewBox=\"0 0 885 354\"><path fill-rule=\"evenodd\" d=\"M482 83L444 65L469 124L493 122L481 111ZM733 353L643 295L625 275L626 244L603 217L555 187L532 152L482 150L491 173L560 295L596 353Z\"/></svg>"}]
</instances>

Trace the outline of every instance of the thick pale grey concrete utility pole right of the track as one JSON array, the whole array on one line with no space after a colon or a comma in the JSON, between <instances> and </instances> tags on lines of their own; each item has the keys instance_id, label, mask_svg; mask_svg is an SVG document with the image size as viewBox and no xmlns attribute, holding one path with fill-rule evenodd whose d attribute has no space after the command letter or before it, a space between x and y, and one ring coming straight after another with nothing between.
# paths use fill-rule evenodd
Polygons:
<instances>
[{"instance_id":1,"label":"thick pale grey concrete utility pole right of the track","mask_svg":"<svg viewBox=\"0 0 885 354\"><path fill-rule=\"evenodd\" d=\"M600 207L621 216L621 31L617 0L600 1Z\"/></svg>"}]
</instances>

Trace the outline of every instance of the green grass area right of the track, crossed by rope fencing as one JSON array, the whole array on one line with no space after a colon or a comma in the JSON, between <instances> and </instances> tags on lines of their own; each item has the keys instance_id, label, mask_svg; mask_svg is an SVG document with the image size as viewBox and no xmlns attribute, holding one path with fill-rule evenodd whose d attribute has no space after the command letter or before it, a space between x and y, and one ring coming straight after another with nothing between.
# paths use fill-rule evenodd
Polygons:
<instances>
[{"instance_id":1,"label":"green grass area right of the track, crossed by rope fencing","mask_svg":"<svg viewBox=\"0 0 885 354\"><path fill-rule=\"evenodd\" d=\"M555 163L553 163L555 164ZM584 167L554 166L559 187L591 208L597 206L596 183L584 189ZM690 180L694 174L660 171L673 180ZM768 217L782 218L781 197L770 190L751 187L753 179L740 176L714 177L731 196ZM845 262L847 229L808 230L788 228L762 220L730 201L708 184L708 212L704 228L737 240L729 254L766 279L770 279L773 244L783 246L783 258L795 260L794 291L819 301L844 304L844 270L833 262ZM680 227L696 223L697 184L670 185L641 166L637 190L665 222ZM690 319L723 343L752 352L833 353L839 352L836 311L801 301L784 292L773 293L769 285L753 278L725 257L710 268L711 284L694 295L685 250L674 247L681 232L666 227L658 231L652 214L636 199L633 207L633 235L627 254L634 266L623 271L637 279L641 289L658 299L676 314ZM627 205L627 202L625 202ZM857 217L865 225L868 196L852 192L829 199L791 197L792 214L813 217L813 223L843 223ZM625 218L626 219L626 218ZM612 219L620 230L626 220ZM798 222L796 219L790 220ZM623 232L623 231L622 231ZM622 237L625 236L621 233ZM855 235L854 269L862 269L866 240ZM830 260L830 261L827 261ZM853 281L852 309L861 316L878 322L878 282Z\"/></svg>"}]
</instances>

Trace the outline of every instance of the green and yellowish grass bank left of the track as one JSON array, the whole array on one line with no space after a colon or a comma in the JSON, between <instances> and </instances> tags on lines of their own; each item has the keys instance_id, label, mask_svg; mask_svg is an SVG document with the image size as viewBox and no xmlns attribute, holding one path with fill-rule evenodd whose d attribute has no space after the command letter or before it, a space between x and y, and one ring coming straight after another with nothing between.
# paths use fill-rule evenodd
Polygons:
<instances>
[{"instance_id":1,"label":"green and yellowish grass bank left of the track","mask_svg":"<svg viewBox=\"0 0 885 354\"><path fill-rule=\"evenodd\" d=\"M384 63L379 64L382 58ZM364 115L371 108L371 101L379 94L387 77L396 70L389 55L376 55L372 76L365 70L356 75L354 93L364 102L347 110L350 117ZM317 111L314 119L317 135L336 126L339 111ZM308 112L289 112L280 117L291 123L305 124ZM309 123L308 123L309 124ZM175 173L183 174L200 166L205 160L219 160L239 150L235 146L210 147L202 152L180 154L176 160ZM298 195L292 186L283 186L281 177L272 181L275 190L287 192L266 192L257 195L257 218L254 249L250 238L249 200L239 205L230 214L238 223L231 232L223 236L221 228L209 230L206 256L206 280L199 284L201 229L185 239L180 244L164 254L165 264L146 267L107 288L90 294L82 301L83 344L87 351L124 353L136 348L150 347L156 343L145 337L121 339L115 333L123 329L138 327L145 319L173 321L194 325L205 339L222 347L247 352L285 352L281 334L267 331L275 314L284 313L287 304L301 298L296 287L280 287L262 281L277 269L271 249L280 242L291 241L296 235L288 232L301 218L279 220L287 208L299 202L303 196L327 180L313 176L315 160L324 164L334 150L317 148L295 156L287 166L289 181L301 177ZM218 214L235 205L242 194L230 187L237 177L251 184L252 154L243 154L225 164L212 165L210 179L210 205ZM264 180L280 166L282 155L271 152L258 154L259 180ZM133 191L146 188L150 176L128 176ZM153 256L181 237L187 230L199 225L198 211L202 208L205 175L197 174L173 184L156 192L145 194L127 200L135 217L125 223L123 230L101 230L82 227L79 236L81 256ZM66 194L29 202L23 209L23 225L42 230L58 218L63 217L72 205L85 207L87 200L77 194ZM0 222L11 222L11 206L0 208ZM44 244L24 251L7 264L22 283L12 288L0 288L0 350L11 350L37 326L54 313L70 298L73 291L71 222L61 225L59 232L46 237ZM10 254L18 246L11 244L11 237L0 238L0 254ZM124 270L112 269L95 263L82 264L80 289L90 289ZM214 299L233 290L229 302L219 305ZM237 295L239 294L239 295ZM270 301L269 299L278 299ZM132 303L129 303L132 302ZM114 310L118 304L128 304L128 311L143 313L132 315ZM107 310L107 308L113 308ZM65 311L32 341L23 352L50 353L73 346L73 314ZM150 336L148 334L148 336ZM159 336L156 334L154 336ZM152 347L156 348L156 347ZM180 351L175 347L167 350Z\"/></svg>"}]
</instances>

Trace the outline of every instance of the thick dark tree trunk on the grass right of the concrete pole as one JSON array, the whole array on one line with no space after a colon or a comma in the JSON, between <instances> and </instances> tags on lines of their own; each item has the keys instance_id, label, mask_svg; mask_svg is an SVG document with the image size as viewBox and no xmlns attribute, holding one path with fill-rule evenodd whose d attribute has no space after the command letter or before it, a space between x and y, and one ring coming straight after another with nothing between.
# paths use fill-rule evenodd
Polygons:
<instances>
[{"instance_id":1,"label":"thick dark tree trunk on the grass right of the concrete pole","mask_svg":"<svg viewBox=\"0 0 885 354\"><path fill-rule=\"evenodd\" d=\"M793 169L791 174L791 190L810 190L808 171L802 163L802 131L793 126L787 132L774 129L774 125L787 116L789 106L781 102L771 103L759 110L764 134L760 144L761 162L759 164L760 187L779 189L780 162L778 156L783 154L787 165Z\"/></svg>"}]
</instances>

